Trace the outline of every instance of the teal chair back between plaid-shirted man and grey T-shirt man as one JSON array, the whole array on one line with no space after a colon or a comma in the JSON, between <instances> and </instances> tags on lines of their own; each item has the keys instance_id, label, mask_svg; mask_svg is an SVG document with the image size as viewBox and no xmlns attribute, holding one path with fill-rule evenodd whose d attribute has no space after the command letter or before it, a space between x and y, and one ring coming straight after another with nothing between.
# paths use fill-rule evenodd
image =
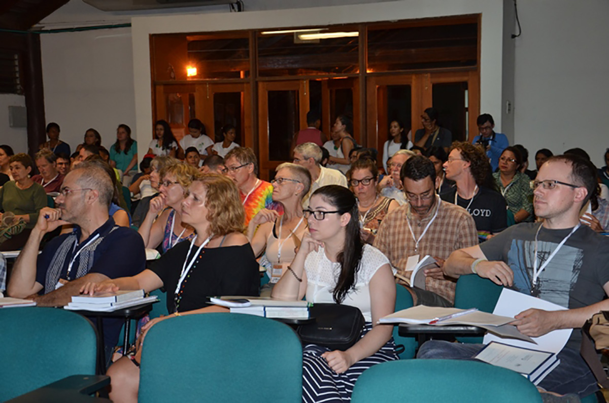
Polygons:
<instances>
[{"instance_id":1,"label":"teal chair back between plaid-shirted man and grey T-shirt man","mask_svg":"<svg viewBox=\"0 0 609 403\"><path fill-rule=\"evenodd\" d=\"M477 308L493 313L502 286L487 278L471 274L460 276L455 289L455 307L460 309ZM482 337L457 337L462 343L482 343Z\"/></svg>"}]
</instances>

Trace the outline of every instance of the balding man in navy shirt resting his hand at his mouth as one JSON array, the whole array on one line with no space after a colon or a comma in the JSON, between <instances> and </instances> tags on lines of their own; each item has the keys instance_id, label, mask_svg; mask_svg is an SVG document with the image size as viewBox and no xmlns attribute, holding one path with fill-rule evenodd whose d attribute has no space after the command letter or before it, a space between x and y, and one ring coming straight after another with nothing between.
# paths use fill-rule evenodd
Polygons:
<instances>
[{"instance_id":1,"label":"balding man in navy shirt resting his hand at his mouth","mask_svg":"<svg viewBox=\"0 0 609 403\"><path fill-rule=\"evenodd\" d=\"M64 306L86 282L134 276L144 270L144 242L131 228L117 226L108 214L114 194L110 177L92 163L80 163L63 180L56 208L40 210L26 246L19 254L7 293L39 306ZM51 239L38 254L43 236L62 225L74 231ZM124 321L104 319L106 357L118 342Z\"/></svg>"}]
</instances>

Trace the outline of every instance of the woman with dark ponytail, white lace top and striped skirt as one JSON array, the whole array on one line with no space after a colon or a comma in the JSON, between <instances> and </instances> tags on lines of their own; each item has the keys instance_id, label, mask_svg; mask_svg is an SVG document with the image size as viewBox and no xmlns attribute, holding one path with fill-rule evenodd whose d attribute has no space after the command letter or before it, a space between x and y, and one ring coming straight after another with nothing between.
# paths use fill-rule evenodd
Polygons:
<instances>
[{"instance_id":1,"label":"woman with dark ponytail, white lace top and striped skirt","mask_svg":"<svg viewBox=\"0 0 609 403\"><path fill-rule=\"evenodd\" d=\"M360 237L357 200L346 188L328 185L311 196L309 231L273 297L338 303L362 311L362 337L346 351L307 345L303 349L303 402L351 398L357 377L377 363L395 360L392 326L377 324L393 313L395 281L389 260ZM318 386L319 385L319 386Z\"/></svg>"}]
</instances>

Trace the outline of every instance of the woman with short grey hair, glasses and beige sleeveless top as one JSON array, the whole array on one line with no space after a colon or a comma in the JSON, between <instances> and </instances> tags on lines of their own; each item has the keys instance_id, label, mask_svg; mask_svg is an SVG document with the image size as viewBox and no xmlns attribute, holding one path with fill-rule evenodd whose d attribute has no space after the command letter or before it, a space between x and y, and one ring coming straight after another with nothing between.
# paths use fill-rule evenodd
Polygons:
<instances>
[{"instance_id":1,"label":"woman with short grey hair, glasses and beige sleeveless top","mask_svg":"<svg viewBox=\"0 0 609 403\"><path fill-rule=\"evenodd\" d=\"M270 290L294 260L295 249L305 234L307 223L302 201L311 187L311 173L297 164L283 163L276 169L273 201L283 206L283 215L275 210L258 211L247 226L247 238L256 256L264 253L260 265L266 268L270 286L262 287L261 295ZM258 229L256 229L258 228Z\"/></svg>"}]
</instances>

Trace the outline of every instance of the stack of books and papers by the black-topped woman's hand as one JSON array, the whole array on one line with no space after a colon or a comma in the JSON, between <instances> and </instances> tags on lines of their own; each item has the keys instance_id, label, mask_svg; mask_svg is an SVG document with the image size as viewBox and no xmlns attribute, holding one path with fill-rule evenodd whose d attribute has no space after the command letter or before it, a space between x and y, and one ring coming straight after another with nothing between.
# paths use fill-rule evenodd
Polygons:
<instances>
[{"instance_id":1,"label":"stack of books and papers by the black-topped woman's hand","mask_svg":"<svg viewBox=\"0 0 609 403\"><path fill-rule=\"evenodd\" d=\"M72 302L63 307L69 310L112 312L130 306L157 301L157 296L144 296L144 290L117 291L95 295L75 295Z\"/></svg>"}]
</instances>

